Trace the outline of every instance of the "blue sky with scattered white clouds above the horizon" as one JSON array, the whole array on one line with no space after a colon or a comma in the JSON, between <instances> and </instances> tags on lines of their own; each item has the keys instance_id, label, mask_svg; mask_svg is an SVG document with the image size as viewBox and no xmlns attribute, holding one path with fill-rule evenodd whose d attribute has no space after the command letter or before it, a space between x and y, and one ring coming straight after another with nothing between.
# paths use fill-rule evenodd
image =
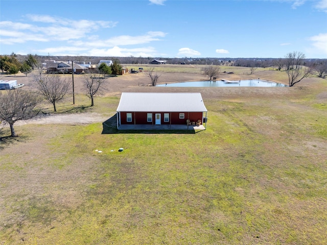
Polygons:
<instances>
[{"instance_id":1,"label":"blue sky with scattered white clouds above the horizon","mask_svg":"<svg viewBox=\"0 0 327 245\"><path fill-rule=\"evenodd\" d=\"M0 54L327 58L327 0L0 1Z\"/></svg>"}]
</instances>

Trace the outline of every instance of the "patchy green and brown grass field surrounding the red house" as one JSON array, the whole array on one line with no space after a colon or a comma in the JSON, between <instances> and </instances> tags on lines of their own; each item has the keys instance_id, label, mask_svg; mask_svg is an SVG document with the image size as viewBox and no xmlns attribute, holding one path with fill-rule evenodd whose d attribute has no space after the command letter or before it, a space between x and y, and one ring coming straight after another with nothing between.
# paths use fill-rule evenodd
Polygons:
<instances>
[{"instance_id":1,"label":"patchy green and brown grass field surrounding the red house","mask_svg":"<svg viewBox=\"0 0 327 245\"><path fill-rule=\"evenodd\" d=\"M158 84L207 79L201 65L153 67ZM274 68L220 71L288 84ZM90 107L83 76L75 105L44 103L18 137L0 128L0 244L327 244L326 79L174 88L141 72L108 78ZM31 75L2 80L35 89ZM122 92L200 92L206 130L119 131Z\"/></svg>"}]
</instances>

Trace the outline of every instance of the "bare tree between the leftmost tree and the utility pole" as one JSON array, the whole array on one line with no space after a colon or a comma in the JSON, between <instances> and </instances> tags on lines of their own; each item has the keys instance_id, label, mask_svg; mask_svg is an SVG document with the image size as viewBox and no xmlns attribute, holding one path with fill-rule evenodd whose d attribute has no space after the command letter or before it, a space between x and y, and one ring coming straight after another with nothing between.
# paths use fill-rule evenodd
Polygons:
<instances>
[{"instance_id":1,"label":"bare tree between the leftmost tree and the utility pole","mask_svg":"<svg viewBox=\"0 0 327 245\"><path fill-rule=\"evenodd\" d=\"M36 75L34 81L37 83L37 88L44 99L53 104L54 111L56 112L56 102L64 99L68 89L71 88L71 83L59 75L44 74Z\"/></svg>"}]
</instances>

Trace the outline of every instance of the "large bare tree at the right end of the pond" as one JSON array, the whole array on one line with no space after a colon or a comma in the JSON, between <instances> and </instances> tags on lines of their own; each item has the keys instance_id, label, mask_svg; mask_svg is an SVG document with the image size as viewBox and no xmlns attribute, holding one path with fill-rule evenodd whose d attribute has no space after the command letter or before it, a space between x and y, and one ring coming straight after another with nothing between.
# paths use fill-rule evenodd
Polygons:
<instances>
[{"instance_id":1,"label":"large bare tree at the right end of the pond","mask_svg":"<svg viewBox=\"0 0 327 245\"><path fill-rule=\"evenodd\" d=\"M312 74L313 69L311 67L302 66L305 54L294 51L293 53L288 53L285 58L286 67L288 68L285 71L288 75L290 87Z\"/></svg>"}]
</instances>

